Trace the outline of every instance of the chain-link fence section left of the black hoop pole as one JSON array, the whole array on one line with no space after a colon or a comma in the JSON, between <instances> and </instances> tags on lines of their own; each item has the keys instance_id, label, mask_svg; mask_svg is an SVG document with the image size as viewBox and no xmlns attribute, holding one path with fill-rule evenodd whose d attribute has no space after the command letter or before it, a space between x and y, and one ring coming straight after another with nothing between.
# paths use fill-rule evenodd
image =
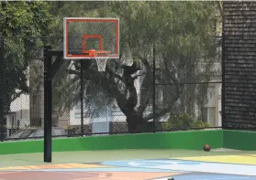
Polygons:
<instances>
[{"instance_id":1,"label":"chain-link fence section left of the black hoop pole","mask_svg":"<svg viewBox=\"0 0 256 180\"><path fill-rule=\"evenodd\" d=\"M43 113L41 38L0 38L1 141L27 138L39 129ZM25 131L26 130L26 131Z\"/></svg>"}]
</instances>

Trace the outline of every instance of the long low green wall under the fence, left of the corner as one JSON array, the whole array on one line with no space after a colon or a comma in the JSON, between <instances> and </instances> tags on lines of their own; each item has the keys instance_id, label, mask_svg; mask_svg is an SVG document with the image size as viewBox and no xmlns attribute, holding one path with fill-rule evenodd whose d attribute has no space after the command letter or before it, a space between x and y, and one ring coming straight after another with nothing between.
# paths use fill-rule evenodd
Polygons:
<instances>
[{"instance_id":1,"label":"long low green wall under the fence, left of the corner","mask_svg":"<svg viewBox=\"0 0 256 180\"><path fill-rule=\"evenodd\" d=\"M113 149L190 149L201 150L204 144L223 146L223 131L157 132L124 135L54 139L52 151L86 151ZM43 141L0 143L0 154L40 153Z\"/></svg>"}]
</instances>

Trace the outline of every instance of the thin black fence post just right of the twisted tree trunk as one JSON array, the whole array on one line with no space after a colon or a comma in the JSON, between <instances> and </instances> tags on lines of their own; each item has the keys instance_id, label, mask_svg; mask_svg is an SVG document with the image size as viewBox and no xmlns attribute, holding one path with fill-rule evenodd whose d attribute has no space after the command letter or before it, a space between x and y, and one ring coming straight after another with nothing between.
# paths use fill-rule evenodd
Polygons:
<instances>
[{"instance_id":1,"label":"thin black fence post just right of the twisted tree trunk","mask_svg":"<svg viewBox=\"0 0 256 180\"><path fill-rule=\"evenodd\" d=\"M155 117L155 113L156 113L156 58L155 58L155 51L156 51L156 47L155 44L153 45L153 97L152 97L152 101L153 101L153 132L156 132L156 117Z\"/></svg>"}]
</instances>

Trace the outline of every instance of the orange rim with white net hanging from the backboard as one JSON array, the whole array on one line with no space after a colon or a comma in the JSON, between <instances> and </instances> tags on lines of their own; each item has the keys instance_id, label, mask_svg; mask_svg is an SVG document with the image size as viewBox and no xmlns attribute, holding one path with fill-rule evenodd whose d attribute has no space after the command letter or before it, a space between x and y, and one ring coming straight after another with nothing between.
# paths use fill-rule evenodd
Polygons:
<instances>
[{"instance_id":1,"label":"orange rim with white net hanging from the backboard","mask_svg":"<svg viewBox=\"0 0 256 180\"><path fill-rule=\"evenodd\" d=\"M89 56L92 58L95 58L99 72L106 71L106 62L110 53L111 53L110 51L96 51L95 49L90 50ZM101 57L101 58L97 58L97 57ZM106 57L106 58L103 58L103 57Z\"/></svg>"}]
</instances>

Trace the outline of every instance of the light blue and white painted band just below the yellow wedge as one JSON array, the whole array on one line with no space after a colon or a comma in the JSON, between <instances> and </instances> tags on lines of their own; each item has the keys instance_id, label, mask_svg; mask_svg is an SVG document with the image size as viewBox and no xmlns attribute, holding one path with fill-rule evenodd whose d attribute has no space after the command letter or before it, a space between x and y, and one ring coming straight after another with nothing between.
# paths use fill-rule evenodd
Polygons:
<instances>
[{"instance_id":1,"label":"light blue and white painted band just below the yellow wedge","mask_svg":"<svg viewBox=\"0 0 256 180\"><path fill-rule=\"evenodd\" d=\"M134 160L134 161L107 161L103 162L105 165L121 166L121 167L138 167L146 169L165 169L176 172L199 172L199 173L213 173L226 175L255 175L256 165L245 164L217 164L196 161L183 160Z\"/></svg>"}]
</instances>

